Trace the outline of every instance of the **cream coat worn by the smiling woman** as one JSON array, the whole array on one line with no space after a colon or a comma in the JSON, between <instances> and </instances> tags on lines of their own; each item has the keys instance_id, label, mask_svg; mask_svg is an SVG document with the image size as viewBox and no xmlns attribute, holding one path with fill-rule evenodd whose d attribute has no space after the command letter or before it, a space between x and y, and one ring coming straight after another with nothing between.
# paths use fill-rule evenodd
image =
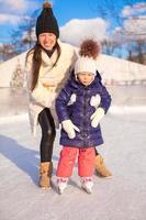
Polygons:
<instances>
[{"instance_id":1,"label":"cream coat worn by the smiling woman","mask_svg":"<svg viewBox=\"0 0 146 220\"><path fill-rule=\"evenodd\" d=\"M38 113L45 107L50 109L56 128L58 128L58 120L55 111L55 99L68 79L70 69L76 61L76 52L71 45L61 43L60 41L58 41L58 44L61 52L60 57L54 67L53 65L56 62L57 52L55 51L49 58L42 50L42 65L38 74L38 81L33 91L30 89L32 80L31 69L33 52L27 57L25 69L27 90L30 95L29 117L31 130L34 135L36 133Z\"/></svg>"}]
</instances>

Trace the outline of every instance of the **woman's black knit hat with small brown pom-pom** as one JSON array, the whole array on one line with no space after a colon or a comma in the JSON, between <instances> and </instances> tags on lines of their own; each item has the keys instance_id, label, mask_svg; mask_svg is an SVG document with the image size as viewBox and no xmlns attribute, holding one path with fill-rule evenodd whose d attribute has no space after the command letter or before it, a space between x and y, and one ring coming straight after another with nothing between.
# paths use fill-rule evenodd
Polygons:
<instances>
[{"instance_id":1,"label":"woman's black knit hat with small brown pom-pom","mask_svg":"<svg viewBox=\"0 0 146 220\"><path fill-rule=\"evenodd\" d=\"M56 37L59 37L59 28L56 18L54 16L52 4L45 2L43 4L43 10L36 21L36 36L42 33L53 33Z\"/></svg>"}]
</instances>

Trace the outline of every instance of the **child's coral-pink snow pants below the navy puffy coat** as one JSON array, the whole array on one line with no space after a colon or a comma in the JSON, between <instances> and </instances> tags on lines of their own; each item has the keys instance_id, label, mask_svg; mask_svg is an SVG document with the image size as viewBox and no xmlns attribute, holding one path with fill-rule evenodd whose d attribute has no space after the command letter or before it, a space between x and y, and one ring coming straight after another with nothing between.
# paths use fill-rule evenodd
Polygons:
<instances>
[{"instance_id":1,"label":"child's coral-pink snow pants below the navy puffy coat","mask_svg":"<svg viewBox=\"0 0 146 220\"><path fill-rule=\"evenodd\" d=\"M60 152L60 158L56 175L58 177L70 177L78 154L78 175L81 177L92 176L94 170L96 153L93 147L76 148L64 146Z\"/></svg>"}]
</instances>

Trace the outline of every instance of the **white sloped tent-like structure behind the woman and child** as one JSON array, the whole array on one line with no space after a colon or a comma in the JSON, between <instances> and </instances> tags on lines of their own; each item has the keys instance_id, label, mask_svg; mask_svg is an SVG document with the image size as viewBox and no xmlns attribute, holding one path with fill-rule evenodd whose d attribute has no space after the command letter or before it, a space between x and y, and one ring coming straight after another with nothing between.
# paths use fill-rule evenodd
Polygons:
<instances>
[{"instance_id":1,"label":"white sloped tent-like structure behind the woman and child","mask_svg":"<svg viewBox=\"0 0 146 220\"><path fill-rule=\"evenodd\" d=\"M12 76L16 72L18 65L22 72L24 70L25 56L26 52L0 65L0 87L10 87ZM102 78L108 85L113 82L123 85L141 84L142 81L146 84L146 66L142 64L101 54L97 59L97 68L102 74Z\"/></svg>"}]
</instances>

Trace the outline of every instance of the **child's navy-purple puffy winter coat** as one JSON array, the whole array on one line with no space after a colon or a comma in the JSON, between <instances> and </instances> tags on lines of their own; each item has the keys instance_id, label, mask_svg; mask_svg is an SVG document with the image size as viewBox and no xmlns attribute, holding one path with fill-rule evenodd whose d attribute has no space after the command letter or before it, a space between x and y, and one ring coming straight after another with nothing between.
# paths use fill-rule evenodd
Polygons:
<instances>
[{"instance_id":1,"label":"child's navy-purple puffy winter coat","mask_svg":"<svg viewBox=\"0 0 146 220\"><path fill-rule=\"evenodd\" d=\"M76 95L76 101L71 105L70 97ZM72 76L66 86L61 89L56 99L56 111L59 122L70 119L78 127L80 132L76 132L75 139L69 139L67 133L61 129L60 144L64 146L74 147L93 147L103 143L100 124L98 128L91 127L90 117L96 111L96 108L90 105L92 96L100 95L100 107L105 113L111 105L111 96L106 88L101 82L101 77L98 76L89 86L83 86Z\"/></svg>"}]
</instances>

